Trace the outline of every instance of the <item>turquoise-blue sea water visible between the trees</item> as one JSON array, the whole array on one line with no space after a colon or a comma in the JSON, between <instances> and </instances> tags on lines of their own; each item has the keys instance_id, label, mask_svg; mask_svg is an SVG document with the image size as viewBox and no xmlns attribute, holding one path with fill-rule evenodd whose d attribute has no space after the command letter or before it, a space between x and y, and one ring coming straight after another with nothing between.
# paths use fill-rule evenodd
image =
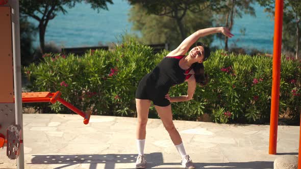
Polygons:
<instances>
[{"instance_id":1,"label":"turquoise-blue sea water visible between the trees","mask_svg":"<svg viewBox=\"0 0 301 169\"><path fill-rule=\"evenodd\" d=\"M132 23L128 21L131 6L127 1L115 0L113 5L108 4L108 11L90 8L89 4L77 4L72 9L67 9L67 14L58 15L49 21L45 41L55 42L60 47L97 46L99 43L106 45L120 40L120 35L131 31ZM232 33L235 35L229 40L229 46L236 44L238 47L257 48L272 52L273 48L273 20L263 7L254 6L257 17L243 15L236 18ZM31 19L37 24L37 21ZM240 29L245 28L245 35ZM138 33L139 34L139 33ZM38 36L35 45L38 43ZM212 45L223 48L223 42L215 40Z\"/></svg>"}]
</instances>

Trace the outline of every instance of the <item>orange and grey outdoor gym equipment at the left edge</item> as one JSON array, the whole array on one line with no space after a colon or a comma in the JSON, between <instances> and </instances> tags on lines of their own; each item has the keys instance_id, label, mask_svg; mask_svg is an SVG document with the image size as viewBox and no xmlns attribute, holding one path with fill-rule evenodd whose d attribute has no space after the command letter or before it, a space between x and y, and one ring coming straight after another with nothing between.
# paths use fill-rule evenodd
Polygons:
<instances>
[{"instance_id":1,"label":"orange and grey outdoor gym equipment at the left edge","mask_svg":"<svg viewBox=\"0 0 301 169\"><path fill-rule=\"evenodd\" d=\"M7 156L17 159L17 168L24 168L22 102L59 101L89 123L86 114L61 98L62 93L21 93L20 28L18 0L0 0L0 148L7 147Z\"/></svg>"}]
</instances>

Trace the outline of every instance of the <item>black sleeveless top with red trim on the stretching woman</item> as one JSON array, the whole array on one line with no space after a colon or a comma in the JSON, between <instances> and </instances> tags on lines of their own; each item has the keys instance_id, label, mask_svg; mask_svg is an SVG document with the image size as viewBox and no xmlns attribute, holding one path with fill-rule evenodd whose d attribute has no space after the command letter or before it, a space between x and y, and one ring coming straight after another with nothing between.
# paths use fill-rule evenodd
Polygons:
<instances>
[{"instance_id":1,"label":"black sleeveless top with red trim on the stretching woman","mask_svg":"<svg viewBox=\"0 0 301 169\"><path fill-rule=\"evenodd\" d=\"M183 70L179 65L179 61L183 57L185 57L185 55L164 57L155 69L149 73L149 83L151 83L155 89L165 90L169 90L171 86L183 83L191 76L191 74L185 75L189 73L191 68Z\"/></svg>"}]
</instances>

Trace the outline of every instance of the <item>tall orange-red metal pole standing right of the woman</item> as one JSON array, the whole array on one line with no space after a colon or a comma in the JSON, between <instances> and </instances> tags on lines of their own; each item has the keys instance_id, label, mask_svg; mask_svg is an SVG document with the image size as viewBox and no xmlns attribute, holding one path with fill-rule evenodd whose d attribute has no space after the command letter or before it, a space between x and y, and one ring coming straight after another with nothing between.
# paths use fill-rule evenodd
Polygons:
<instances>
[{"instance_id":1,"label":"tall orange-red metal pole standing right of the woman","mask_svg":"<svg viewBox=\"0 0 301 169\"><path fill-rule=\"evenodd\" d=\"M273 75L270 116L269 154L277 153L277 129L280 93L280 65L282 43L283 0L275 2L274 44L273 44Z\"/></svg>"}]
</instances>

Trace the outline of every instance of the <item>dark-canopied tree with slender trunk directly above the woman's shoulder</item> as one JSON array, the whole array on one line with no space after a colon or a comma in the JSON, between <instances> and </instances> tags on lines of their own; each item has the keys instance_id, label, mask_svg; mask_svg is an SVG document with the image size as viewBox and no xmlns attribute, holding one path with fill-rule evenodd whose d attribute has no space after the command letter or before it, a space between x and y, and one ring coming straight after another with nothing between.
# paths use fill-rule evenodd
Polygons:
<instances>
[{"instance_id":1,"label":"dark-canopied tree with slender trunk directly above the woman's shoulder","mask_svg":"<svg viewBox=\"0 0 301 169\"><path fill-rule=\"evenodd\" d=\"M187 32L183 24L183 18L188 11L200 13L208 8L219 8L219 1L205 0L128 0L131 5L139 4L146 9L147 14L167 16L174 19L178 26L182 40L187 37Z\"/></svg>"}]
</instances>

